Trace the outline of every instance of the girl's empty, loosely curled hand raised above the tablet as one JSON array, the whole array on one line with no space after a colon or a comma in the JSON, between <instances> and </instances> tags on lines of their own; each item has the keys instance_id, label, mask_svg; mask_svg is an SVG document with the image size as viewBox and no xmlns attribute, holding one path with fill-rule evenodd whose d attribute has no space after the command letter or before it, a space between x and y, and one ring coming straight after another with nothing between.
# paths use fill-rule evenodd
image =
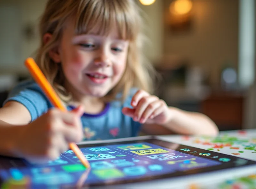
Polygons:
<instances>
[{"instance_id":1,"label":"girl's empty, loosely curled hand raised above the tablet","mask_svg":"<svg viewBox=\"0 0 256 189\"><path fill-rule=\"evenodd\" d=\"M166 103L159 100L157 96L150 95L143 90L139 90L133 95L131 105L133 109L123 108L123 114L142 124L163 125L171 118Z\"/></svg>"}]
</instances>

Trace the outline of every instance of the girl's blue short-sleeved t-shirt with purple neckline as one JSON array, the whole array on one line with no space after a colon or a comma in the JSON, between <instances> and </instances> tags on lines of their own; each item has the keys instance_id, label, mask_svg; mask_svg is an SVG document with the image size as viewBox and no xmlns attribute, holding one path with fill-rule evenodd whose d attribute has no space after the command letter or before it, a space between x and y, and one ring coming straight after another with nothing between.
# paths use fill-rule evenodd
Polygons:
<instances>
[{"instance_id":1,"label":"girl's blue short-sleeved t-shirt with purple neckline","mask_svg":"<svg viewBox=\"0 0 256 189\"><path fill-rule=\"evenodd\" d=\"M137 136L140 123L134 122L131 117L122 114L123 107L131 107L131 99L135 90L124 103L119 101L109 102L105 109L97 115L86 114L81 117L84 130L84 140L106 140ZM32 121L52 108L52 103L47 99L41 88L33 81L27 80L12 89L7 100L23 104L30 112ZM74 109L72 106L68 110Z\"/></svg>"}]
</instances>

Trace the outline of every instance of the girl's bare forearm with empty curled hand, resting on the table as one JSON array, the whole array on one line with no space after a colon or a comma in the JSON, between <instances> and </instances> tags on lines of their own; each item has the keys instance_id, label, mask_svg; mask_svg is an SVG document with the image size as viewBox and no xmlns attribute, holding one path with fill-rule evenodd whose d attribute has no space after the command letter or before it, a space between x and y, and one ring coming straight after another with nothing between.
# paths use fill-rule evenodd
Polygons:
<instances>
[{"instance_id":1,"label":"girl's bare forearm with empty curled hand, resting on the table","mask_svg":"<svg viewBox=\"0 0 256 189\"><path fill-rule=\"evenodd\" d=\"M123 113L144 124L142 130L147 134L154 134L160 125L177 134L217 135L219 132L209 117L168 107L163 100L143 90L134 94L131 103L133 109L124 108ZM161 134L168 133L163 130Z\"/></svg>"}]
</instances>

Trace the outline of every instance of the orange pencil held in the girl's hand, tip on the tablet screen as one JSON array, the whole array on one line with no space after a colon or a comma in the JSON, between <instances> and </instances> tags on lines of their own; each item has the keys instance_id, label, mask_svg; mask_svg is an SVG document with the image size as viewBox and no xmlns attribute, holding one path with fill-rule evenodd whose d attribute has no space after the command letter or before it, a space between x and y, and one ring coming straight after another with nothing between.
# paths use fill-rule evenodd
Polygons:
<instances>
[{"instance_id":1,"label":"orange pencil held in the girl's hand, tip on the tablet screen","mask_svg":"<svg viewBox=\"0 0 256 189\"><path fill-rule=\"evenodd\" d=\"M52 88L51 84L48 82L48 80L45 78L43 72L40 70L40 68L37 66L36 62L33 58L27 58L25 61L25 65L28 68L28 71L32 75L32 77L35 79L36 83L41 87L41 89L44 91L46 96L49 98L49 100L52 102L54 107L59 108L62 111L68 111L65 106L60 101L60 98L55 93L54 89ZM81 150L78 148L76 143L70 143L69 144L70 149L74 151L76 156L79 158L79 160L83 163L83 165L86 168L90 167L89 162L84 157Z\"/></svg>"}]
</instances>

